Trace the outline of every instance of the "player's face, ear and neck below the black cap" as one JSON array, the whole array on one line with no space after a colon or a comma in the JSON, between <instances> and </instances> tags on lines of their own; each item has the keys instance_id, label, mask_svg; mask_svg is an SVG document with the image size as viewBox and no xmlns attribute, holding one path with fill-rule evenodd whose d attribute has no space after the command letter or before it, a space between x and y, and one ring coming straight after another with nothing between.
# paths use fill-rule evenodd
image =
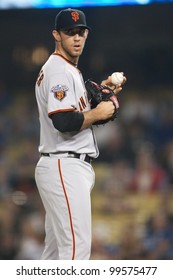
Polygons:
<instances>
[{"instance_id":1,"label":"player's face, ear and neck below the black cap","mask_svg":"<svg viewBox=\"0 0 173 280\"><path fill-rule=\"evenodd\" d=\"M70 30L57 32L58 51L68 60L76 63L82 54L88 29L76 27Z\"/></svg>"}]
</instances>

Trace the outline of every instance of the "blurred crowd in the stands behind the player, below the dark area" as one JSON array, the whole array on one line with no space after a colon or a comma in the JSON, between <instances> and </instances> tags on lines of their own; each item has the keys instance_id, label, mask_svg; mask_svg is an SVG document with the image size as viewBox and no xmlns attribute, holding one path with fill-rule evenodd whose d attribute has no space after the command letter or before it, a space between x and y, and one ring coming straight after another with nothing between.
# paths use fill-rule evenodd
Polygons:
<instances>
[{"instance_id":1,"label":"blurred crowd in the stands behind the player, below the dark area","mask_svg":"<svg viewBox=\"0 0 173 280\"><path fill-rule=\"evenodd\" d=\"M117 120L94 128L100 156L93 163L92 259L173 259L171 90L120 98ZM34 90L11 93L0 81L0 110L0 259L39 259L44 210L34 180L39 158ZM156 205L151 205L153 196L159 197ZM131 201L141 197L146 198L142 211L151 211L137 220L139 208ZM105 225L101 230L95 227L97 217ZM111 224L120 221L118 238L111 228L107 232L109 217Z\"/></svg>"}]
</instances>

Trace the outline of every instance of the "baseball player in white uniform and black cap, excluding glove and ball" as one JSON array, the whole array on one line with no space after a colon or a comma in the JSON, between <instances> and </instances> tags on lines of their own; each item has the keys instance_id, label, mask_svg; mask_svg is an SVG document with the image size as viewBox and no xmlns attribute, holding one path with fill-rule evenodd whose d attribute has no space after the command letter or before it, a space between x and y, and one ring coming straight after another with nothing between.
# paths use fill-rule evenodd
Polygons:
<instances>
[{"instance_id":1,"label":"baseball player in white uniform and black cap, excluding glove and ball","mask_svg":"<svg viewBox=\"0 0 173 280\"><path fill-rule=\"evenodd\" d=\"M91 162L99 155L92 124L110 118L114 105L101 102L91 110L77 66L89 30L82 11L60 11L52 32L55 52L36 81L41 156L35 179L46 212L41 259L90 258L90 193L95 181ZM103 83L111 86L109 79Z\"/></svg>"}]
</instances>

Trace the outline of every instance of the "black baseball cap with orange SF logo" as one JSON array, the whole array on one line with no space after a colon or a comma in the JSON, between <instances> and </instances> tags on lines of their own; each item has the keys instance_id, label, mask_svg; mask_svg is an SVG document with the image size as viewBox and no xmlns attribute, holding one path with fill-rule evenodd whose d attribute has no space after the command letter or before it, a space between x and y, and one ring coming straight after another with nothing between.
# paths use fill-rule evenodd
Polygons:
<instances>
[{"instance_id":1,"label":"black baseball cap with orange SF logo","mask_svg":"<svg viewBox=\"0 0 173 280\"><path fill-rule=\"evenodd\" d=\"M86 24L85 14L76 9L65 9L60 11L55 17L56 30L68 30L75 27L84 27L89 30L91 28Z\"/></svg>"}]
</instances>

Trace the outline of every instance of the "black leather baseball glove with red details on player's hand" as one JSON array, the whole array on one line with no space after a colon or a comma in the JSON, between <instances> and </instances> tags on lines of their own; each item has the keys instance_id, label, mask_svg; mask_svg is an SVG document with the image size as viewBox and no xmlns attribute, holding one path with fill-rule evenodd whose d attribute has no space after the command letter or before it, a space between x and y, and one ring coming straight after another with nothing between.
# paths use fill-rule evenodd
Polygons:
<instances>
[{"instance_id":1,"label":"black leather baseball glove with red details on player's hand","mask_svg":"<svg viewBox=\"0 0 173 280\"><path fill-rule=\"evenodd\" d=\"M97 105L102 101L112 101L115 106L115 110L111 118L97 121L94 125L106 124L109 121L113 121L117 117L119 108L119 103L113 90L107 86L99 85L90 79L85 82L85 87L88 93L91 109L97 107Z\"/></svg>"}]
</instances>

